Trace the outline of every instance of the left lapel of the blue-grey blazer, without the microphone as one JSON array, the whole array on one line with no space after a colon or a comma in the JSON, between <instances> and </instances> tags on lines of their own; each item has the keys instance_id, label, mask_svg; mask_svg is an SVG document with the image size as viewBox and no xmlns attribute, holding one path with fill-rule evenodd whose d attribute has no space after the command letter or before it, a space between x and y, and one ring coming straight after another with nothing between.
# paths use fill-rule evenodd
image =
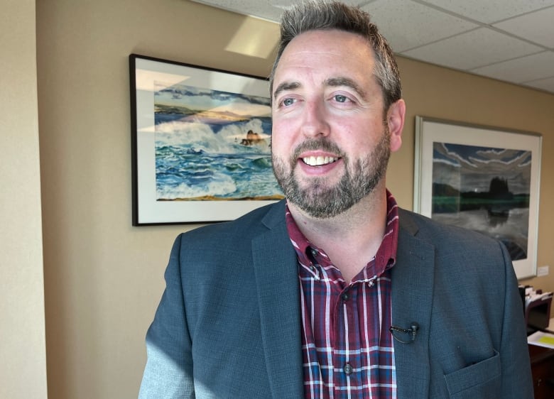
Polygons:
<instances>
[{"instance_id":1,"label":"left lapel of the blue-grey blazer, without the microphone","mask_svg":"<svg viewBox=\"0 0 554 399\"><path fill-rule=\"evenodd\" d=\"M298 399L303 397L300 287L284 215L284 207L271 208L269 230L252 241L252 256L271 393Z\"/></svg>"}]
</instances>

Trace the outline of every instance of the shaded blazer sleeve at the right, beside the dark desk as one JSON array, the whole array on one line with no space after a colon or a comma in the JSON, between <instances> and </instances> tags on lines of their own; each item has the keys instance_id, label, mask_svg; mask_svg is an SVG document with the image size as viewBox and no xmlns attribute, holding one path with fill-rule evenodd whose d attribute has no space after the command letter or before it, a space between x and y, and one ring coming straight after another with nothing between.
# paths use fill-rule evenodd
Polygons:
<instances>
[{"instance_id":1,"label":"shaded blazer sleeve at the right, beside the dark desk","mask_svg":"<svg viewBox=\"0 0 554 399\"><path fill-rule=\"evenodd\" d=\"M533 398L533 378L526 324L518 282L508 251L501 245L506 267L506 298L501 339L502 392L499 398Z\"/></svg>"}]
</instances>

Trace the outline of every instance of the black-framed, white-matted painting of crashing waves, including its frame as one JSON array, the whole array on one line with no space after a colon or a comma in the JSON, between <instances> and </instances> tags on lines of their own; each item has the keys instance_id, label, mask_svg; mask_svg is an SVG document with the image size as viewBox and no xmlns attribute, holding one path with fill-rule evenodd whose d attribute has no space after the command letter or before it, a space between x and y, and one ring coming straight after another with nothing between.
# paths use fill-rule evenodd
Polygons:
<instances>
[{"instance_id":1,"label":"black-framed, white-matted painting of crashing waves, including its frame","mask_svg":"<svg viewBox=\"0 0 554 399\"><path fill-rule=\"evenodd\" d=\"M133 225L235 219L283 198L268 80L131 54Z\"/></svg>"}]
</instances>

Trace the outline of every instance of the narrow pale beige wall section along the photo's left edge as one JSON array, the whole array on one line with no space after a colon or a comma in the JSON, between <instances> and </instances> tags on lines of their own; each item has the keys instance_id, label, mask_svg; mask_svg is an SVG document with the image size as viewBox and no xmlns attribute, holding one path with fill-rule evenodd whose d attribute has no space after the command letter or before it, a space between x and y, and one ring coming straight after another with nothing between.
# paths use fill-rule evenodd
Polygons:
<instances>
[{"instance_id":1,"label":"narrow pale beige wall section along the photo's left edge","mask_svg":"<svg viewBox=\"0 0 554 399\"><path fill-rule=\"evenodd\" d=\"M0 0L0 398L46 398L35 1Z\"/></svg>"}]
</instances>

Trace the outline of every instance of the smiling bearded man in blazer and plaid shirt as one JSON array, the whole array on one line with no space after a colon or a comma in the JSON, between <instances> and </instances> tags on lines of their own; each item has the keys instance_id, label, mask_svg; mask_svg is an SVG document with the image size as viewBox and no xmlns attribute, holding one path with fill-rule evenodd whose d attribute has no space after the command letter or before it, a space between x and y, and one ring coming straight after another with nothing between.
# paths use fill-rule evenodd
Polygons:
<instances>
[{"instance_id":1,"label":"smiling bearded man in blazer and plaid shirt","mask_svg":"<svg viewBox=\"0 0 554 399\"><path fill-rule=\"evenodd\" d=\"M398 209L405 104L369 16L283 15L272 156L286 201L178 237L141 398L532 398L506 249Z\"/></svg>"}]
</instances>

